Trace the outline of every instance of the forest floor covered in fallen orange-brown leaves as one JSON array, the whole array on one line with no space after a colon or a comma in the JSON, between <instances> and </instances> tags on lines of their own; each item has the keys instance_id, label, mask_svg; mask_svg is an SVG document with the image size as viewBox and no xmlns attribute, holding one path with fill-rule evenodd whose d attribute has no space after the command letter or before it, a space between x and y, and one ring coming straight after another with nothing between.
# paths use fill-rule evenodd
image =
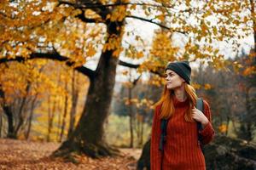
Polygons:
<instances>
[{"instance_id":1,"label":"forest floor covered in fallen orange-brown leaves","mask_svg":"<svg viewBox=\"0 0 256 170\"><path fill-rule=\"evenodd\" d=\"M1 170L132 170L136 169L137 159L141 155L139 149L120 149L121 156L91 159L78 156L79 164L50 158L49 155L60 144L32 142L25 140L0 139L0 169Z\"/></svg>"}]
</instances>

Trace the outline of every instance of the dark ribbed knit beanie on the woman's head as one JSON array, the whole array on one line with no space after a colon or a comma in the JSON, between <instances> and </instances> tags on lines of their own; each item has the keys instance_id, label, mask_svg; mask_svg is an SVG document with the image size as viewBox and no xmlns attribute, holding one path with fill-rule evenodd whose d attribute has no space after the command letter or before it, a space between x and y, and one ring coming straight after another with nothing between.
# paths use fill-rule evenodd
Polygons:
<instances>
[{"instance_id":1,"label":"dark ribbed knit beanie on the woman's head","mask_svg":"<svg viewBox=\"0 0 256 170\"><path fill-rule=\"evenodd\" d=\"M189 61L176 61L169 63L166 66L166 70L172 70L177 73L178 76L182 77L185 82L190 84L191 67Z\"/></svg>"}]
</instances>

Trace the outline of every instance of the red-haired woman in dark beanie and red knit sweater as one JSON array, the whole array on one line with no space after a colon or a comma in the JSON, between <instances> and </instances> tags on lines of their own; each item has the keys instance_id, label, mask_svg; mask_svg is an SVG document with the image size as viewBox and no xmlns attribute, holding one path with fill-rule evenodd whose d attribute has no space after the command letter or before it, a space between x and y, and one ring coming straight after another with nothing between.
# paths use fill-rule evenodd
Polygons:
<instances>
[{"instance_id":1,"label":"red-haired woman in dark beanie and red knit sweater","mask_svg":"<svg viewBox=\"0 0 256 170\"><path fill-rule=\"evenodd\" d=\"M195 108L197 96L190 86L191 68L188 61L172 62L166 67L166 85L156 103L151 135L151 170L205 170L205 158L198 143L208 144L214 136L211 111L204 100L204 113ZM160 145L160 119L168 119L166 143ZM198 132L196 122L201 122Z\"/></svg>"}]
</instances>

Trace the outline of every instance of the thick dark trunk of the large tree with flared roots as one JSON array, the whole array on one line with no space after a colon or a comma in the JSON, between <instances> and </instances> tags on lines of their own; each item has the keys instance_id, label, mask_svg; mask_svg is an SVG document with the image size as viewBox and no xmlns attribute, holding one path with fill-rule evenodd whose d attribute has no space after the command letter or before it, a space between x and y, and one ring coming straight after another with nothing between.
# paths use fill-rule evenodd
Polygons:
<instances>
[{"instance_id":1,"label":"thick dark trunk of the large tree with flared roots","mask_svg":"<svg viewBox=\"0 0 256 170\"><path fill-rule=\"evenodd\" d=\"M123 21L107 23L107 42L113 37L121 38L122 26ZM118 57L113 56L114 50L106 49L102 52L96 74L90 79L90 88L78 126L67 141L55 151L54 156L73 159L70 156L73 151L82 152L94 158L113 156L117 153L117 150L113 150L106 144L103 133L103 124L108 118L118 64Z\"/></svg>"}]
</instances>

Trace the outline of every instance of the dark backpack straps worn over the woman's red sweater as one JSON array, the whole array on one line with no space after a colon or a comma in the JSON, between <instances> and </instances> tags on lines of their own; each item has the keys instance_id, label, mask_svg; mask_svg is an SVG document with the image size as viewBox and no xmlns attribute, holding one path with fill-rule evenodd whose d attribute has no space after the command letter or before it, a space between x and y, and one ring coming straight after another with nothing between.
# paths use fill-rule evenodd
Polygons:
<instances>
[{"instance_id":1,"label":"dark backpack straps worn over the woman's red sweater","mask_svg":"<svg viewBox=\"0 0 256 170\"><path fill-rule=\"evenodd\" d=\"M203 99L198 98L196 100L196 108L204 113ZM161 134L160 134L159 150L161 150L161 151L164 150L164 144L166 143L166 127L167 127L168 121L169 121L169 119L161 119L161 122L160 122ZM199 131L202 129L202 125L201 125L201 122L196 122L196 124L197 124L197 132L198 132L198 142L199 142L199 144L201 146L201 150L202 150L202 143L201 143L202 136L199 133Z\"/></svg>"}]
</instances>

